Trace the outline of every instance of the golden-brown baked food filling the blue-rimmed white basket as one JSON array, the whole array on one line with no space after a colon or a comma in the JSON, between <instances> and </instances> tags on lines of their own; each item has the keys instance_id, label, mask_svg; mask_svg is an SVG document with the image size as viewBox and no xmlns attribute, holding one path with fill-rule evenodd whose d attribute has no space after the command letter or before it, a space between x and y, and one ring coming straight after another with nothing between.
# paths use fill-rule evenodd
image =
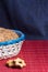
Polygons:
<instances>
[{"instance_id":1,"label":"golden-brown baked food filling the blue-rimmed white basket","mask_svg":"<svg viewBox=\"0 0 48 72\"><path fill-rule=\"evenodd\" d=\"M0 28L0 42L4 42L17 38L19 38L17 33L15 33L14 31L5 28Z\"/></svg>"}]
</instances>

